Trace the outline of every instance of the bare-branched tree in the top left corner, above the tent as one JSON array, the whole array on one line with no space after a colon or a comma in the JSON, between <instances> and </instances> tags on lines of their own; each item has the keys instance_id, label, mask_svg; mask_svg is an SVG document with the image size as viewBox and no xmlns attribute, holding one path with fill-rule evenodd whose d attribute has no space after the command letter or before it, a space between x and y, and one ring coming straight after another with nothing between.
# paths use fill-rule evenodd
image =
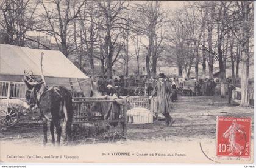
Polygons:
<instances>
[{"instance_id":1,"label":"bare-branched tree in the top left corner, above the tent","mask_svg":"<svg viewBox=\"0 0 256 168\"><path fill-rule=\"evenodd\" d=\"M38 2L33 3L30 0L0 1L0 42L26 45L26 33L34 25L37 7Z\"/></svg>"}]
</instances>

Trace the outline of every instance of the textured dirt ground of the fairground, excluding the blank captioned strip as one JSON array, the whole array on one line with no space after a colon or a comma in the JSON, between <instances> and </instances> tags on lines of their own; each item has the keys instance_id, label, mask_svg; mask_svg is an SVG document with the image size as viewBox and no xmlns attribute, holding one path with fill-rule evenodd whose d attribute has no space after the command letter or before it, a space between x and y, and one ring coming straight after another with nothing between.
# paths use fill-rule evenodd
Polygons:
<instances>
[{"instance_id":1,"label":"textured dirt ground of the fairground, excluding the blank captioned strip","mask_svg":"<svg viewBox=\"0 0 256 168\"><path fill-rule=\"evenodd\" d=\"M163 126L163 121L156 121L153 124L127 124L126 141L179 142L184 139L186 141L202 138L214 139L216 116L253 118L254 109L231 106L227 104L227 99L221 99L218 96L180 97L179 102L173 103L171 116L176 119L172 127ZM49 134L48 130L48 136ZM41 144L43 141L42 126L21 123L7 130L1 130L0 141L14 144Z\"/></svg>"}]
</instances>

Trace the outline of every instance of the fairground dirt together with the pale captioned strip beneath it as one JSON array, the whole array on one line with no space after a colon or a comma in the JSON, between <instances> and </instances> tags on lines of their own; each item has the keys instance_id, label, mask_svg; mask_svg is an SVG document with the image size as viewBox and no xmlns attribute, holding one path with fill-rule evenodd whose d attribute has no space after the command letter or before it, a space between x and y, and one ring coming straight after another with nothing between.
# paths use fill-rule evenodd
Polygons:
<instances>
[{"instance_id":1,"label":"fairground dirt together with the pale captioned strip beneath it","mask_svg":"<svg viewBox=\"0 0 256 168\"><path fill-rule=\"evenodd\" d=\"M176 122L172 127L163 126L163 121L156 121L153 124L128 124L126 140L104 142L82 140L76 141L73 146L52 147L51 143L43 146L42 127L23 123L23 126L0 131L0 159L12 162L213 163L218 161L218 163L229 163L229 160L219 160L215 155L216 117L253 118L254 114L251 108L230 106L227 104L227 99L217 96L181 97L173 106L171 116ZM48 140L51 139L49 134L48 131ZM251 143L251 146L253 149L254 144ZM114 156L115 152L130 153L130 156ZM253 152L251 153L253 158ZM9 159L8 155L23 155L24 159ZM28 157L35 155L40 157ZM55 160L49 158L50 155L70 155L77 159ZM248 163L237 158L233 162Z\"/></svg>"}]
</instances>

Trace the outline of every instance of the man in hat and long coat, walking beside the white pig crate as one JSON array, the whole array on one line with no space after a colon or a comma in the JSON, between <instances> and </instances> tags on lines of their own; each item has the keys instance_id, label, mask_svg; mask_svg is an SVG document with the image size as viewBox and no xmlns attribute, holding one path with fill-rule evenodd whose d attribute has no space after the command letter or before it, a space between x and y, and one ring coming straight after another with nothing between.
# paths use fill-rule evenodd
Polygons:
<instances>
[{"instance_id":1,"label":"man in hat and long coat, walking beside the white pig crate","mask_svg":"<svg viewBox=\"0 0 256 168\"><path fill-rule=\"evenodd\" d=\"M165 82L165 74L160 73L157 85L155 86L151 96L157 96L157 113L162 113L165 116L165 126L172 126L175 119L173 119L169 113L171 112L171 96L172 90Z\"/></svg>"}]
</instances>

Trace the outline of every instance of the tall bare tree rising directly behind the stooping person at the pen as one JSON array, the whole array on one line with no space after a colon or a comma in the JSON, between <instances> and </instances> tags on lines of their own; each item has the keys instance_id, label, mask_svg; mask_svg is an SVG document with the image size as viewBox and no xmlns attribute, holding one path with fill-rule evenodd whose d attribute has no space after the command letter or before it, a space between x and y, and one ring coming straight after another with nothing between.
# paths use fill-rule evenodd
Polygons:
<instances>
[{"instance_id":1,"label":"tall bare tree rising directly behind the stooping person at the pen","mask_svg":"<svg viewBox=\"0 0 256 168\"><path fill-rule=\"evenodd\" d=\"M120 36L126 30L125 13L129 3L125 1L98 1L101 15L104 18L102 29L104 30L104 55L106 56L107 76L112 76L113 64L118 59L124 42L119 41Z\"/></svg>"}]
</instances>

